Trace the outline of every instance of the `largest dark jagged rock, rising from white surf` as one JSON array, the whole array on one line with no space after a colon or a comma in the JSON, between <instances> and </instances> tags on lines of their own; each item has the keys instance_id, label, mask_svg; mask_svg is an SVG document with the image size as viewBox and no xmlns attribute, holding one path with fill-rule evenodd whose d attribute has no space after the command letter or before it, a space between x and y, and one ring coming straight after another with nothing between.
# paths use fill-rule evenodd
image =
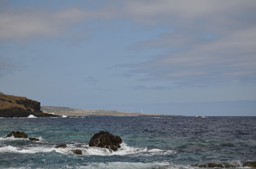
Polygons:
<instances>
[{"instance_id":1,"label":"largest dark jagged rock, rising from white surf","mask_svg":"<svg viewBox=\"0 0 256 169\"><path fill-rule=\"evenodd\" d=\"M117 151L120 148L122 139L119 136L114 136L110 132L100 131L93 135L89 142L89 146L98 146L112 151Z\"/></svg>"}]
</instances>

